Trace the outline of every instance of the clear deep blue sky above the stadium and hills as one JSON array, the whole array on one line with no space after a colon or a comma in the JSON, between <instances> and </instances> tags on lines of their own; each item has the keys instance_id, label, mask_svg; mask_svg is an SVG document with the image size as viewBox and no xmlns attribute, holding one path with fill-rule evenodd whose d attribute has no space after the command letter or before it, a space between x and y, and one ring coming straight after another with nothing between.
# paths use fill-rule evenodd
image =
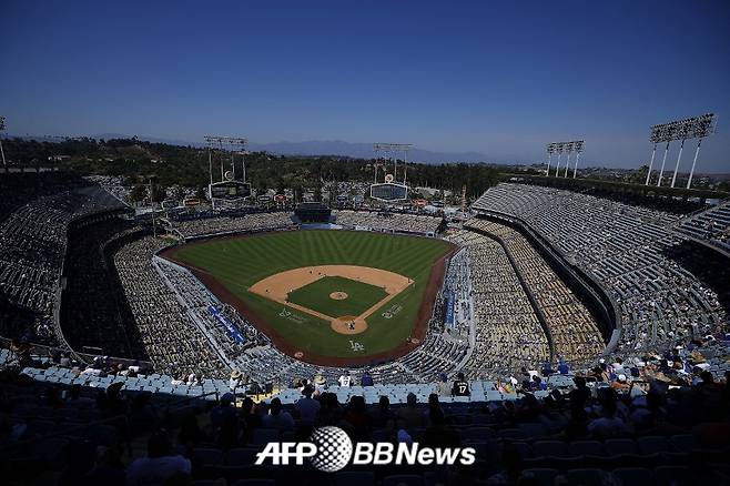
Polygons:
<instances>
[{"instance_id":1,"label":"clear deep blue sky above the stadium and hills","mask_svg":"<svg viewBox=\"0 0 730 486\"><path fill-rule=\"evenodd\" d=\"M730 2L21 1L0 6L14 134L398 141L540 161L585 138L637 166L649 125L716 111L730 172ZM686 155L685 162L689 160Z\"/></svg>"}]
</instances>

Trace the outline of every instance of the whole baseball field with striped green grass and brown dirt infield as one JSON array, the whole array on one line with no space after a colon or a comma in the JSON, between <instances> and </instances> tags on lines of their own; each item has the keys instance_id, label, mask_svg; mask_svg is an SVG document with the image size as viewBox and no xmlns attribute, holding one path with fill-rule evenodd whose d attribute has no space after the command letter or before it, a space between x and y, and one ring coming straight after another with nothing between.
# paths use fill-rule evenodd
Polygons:
<instances>
[{"instance_id":1,"label":"whole baseball field with striped green grass and brown dirt infield","mask_svg":"<svg viewBox=\"0 0 730 486\"><path fill-rule=\"evenodd\" d=\"M452 245L354 231L288 231L191 242L189 267L283 352L323 365L405 354L424 338Z\"/></svg>"}]
</instances>

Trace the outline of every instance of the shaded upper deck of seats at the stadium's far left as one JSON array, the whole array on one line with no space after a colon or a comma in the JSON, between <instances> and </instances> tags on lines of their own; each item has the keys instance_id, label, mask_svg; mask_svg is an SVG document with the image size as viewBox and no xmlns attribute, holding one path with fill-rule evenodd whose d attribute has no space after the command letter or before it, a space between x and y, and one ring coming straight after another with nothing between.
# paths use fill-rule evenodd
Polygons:
<instances>
[{"instance_id":1,"label":"shaded upper deck of seats at the stadium's far left","mask_svg":"<svg viewBox=\"0 0 730 486\"><path fill-rule=\"evenodd\" d=\"M122 203L64 173L0 176L0 335L62 344L55 313L69 223Z\"/></svg>"}]
</instances>

